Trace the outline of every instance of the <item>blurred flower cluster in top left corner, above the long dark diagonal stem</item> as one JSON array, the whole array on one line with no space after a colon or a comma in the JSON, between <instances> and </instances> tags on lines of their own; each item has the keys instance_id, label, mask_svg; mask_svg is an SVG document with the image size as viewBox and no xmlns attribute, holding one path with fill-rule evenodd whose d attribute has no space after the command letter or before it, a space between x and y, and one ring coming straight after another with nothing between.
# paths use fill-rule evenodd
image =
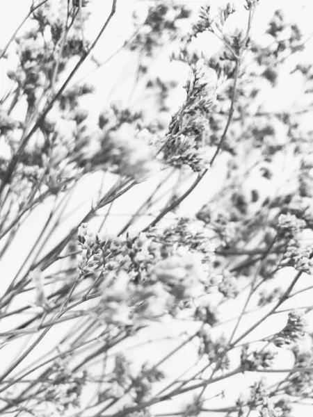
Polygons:
<instances>
[{"instance_id":1,"label":"blurred flower cluster in top left corner, above the long dark diagonal stem","mask_svg":"<svg viewBox=\"0 0 313 417\"><path fill-rule=\"evenodd\" d=\"M42 94L45 80L55 83L58 75L65 69L67 60L84 53L76 23L72 25L72 30L67 33L62 44L66 19L63 12L62 8L56 10L46 3L45 7L40 7L33 13L34 27L22 37L16 38L20 63L16 71L10 72L10 78L19 84L26 95L29 111L34 109ZM83 19L85 17L86 13Z\"/></svg>"}]
</instances>

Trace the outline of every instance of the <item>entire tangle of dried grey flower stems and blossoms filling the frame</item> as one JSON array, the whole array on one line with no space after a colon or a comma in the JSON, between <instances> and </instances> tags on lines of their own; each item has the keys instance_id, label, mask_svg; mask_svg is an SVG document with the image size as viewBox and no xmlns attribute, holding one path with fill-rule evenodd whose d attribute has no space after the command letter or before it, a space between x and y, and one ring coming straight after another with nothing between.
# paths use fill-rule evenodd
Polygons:
<instances>
[{"instance_id":1,"label":"entire tangle of dried grey flower stems and blossoms filling the frame","mask_svg":"<svg viewBox=\"0 0 313 417\"><path fill-rule=\"evenodd\" d=\"M282 10L265 42L252 37L259 2L246 0L246 22L232 31L227 25L238 10L231 3L217 12L202 6L195 15L176 1L147 2L144 19L145 2L136 3L134 34L118 53L138 58L136 85L154 98L151 114L141 97L134 108L107 101L94 117L83 102L97 88L73 81L88 57L97 63L93 50L107 26L119 25L119 0L93 40L84 35L93 1L33 2L25 19L31 28L20 28L1 51L3 62L14 56L16 65L0 101L0 268L28 216L53 203L40 236L23 243L26 261L16 250L10 265L21 267L9 282L1 277L0 349L5 357L19 347L12 361L2 361L1 415L278 417L296 415L302 400L312 405L312 307L284 304L312 289L312 130L301 117L312 111L313 72L303 58L305 35ZM215 54L195 48L205 36L220 40ZM169 46L172 64L188 72L175 111L168 103L178 81L150 74ZM266 111L262 94L285 68L305 85L302 107ZM179 204L219 164L225 180L216 178L218 193L208 193L195 215L179 215ZM160 210L154 197L168 190L164 172L191 185L167 191ZM68 227L63 207L93 175L104 179L99 193ZM107 232L113 202L157 175L157 189L127 224ZM111 188L106 176L115 179ZM145 216L149 222L134 233L131 226ZM278 313L286 321L273 334ZM142 332L166 332L182 320L195 332L174 350L161 359L158 347L131 357ZM264 323L267 334L255 337ZM192 344L194 368L181 363L182 375L170 375L166 362ZM294 359L282 368L286 352ZM260 373L280 379L271 384ZM229 400L232 378L251 374L255 382L247 378L246 390L239 383L238 397ZM191 400L177 411L154 409L186 393Z\"/></svg>"}]
</instances>

